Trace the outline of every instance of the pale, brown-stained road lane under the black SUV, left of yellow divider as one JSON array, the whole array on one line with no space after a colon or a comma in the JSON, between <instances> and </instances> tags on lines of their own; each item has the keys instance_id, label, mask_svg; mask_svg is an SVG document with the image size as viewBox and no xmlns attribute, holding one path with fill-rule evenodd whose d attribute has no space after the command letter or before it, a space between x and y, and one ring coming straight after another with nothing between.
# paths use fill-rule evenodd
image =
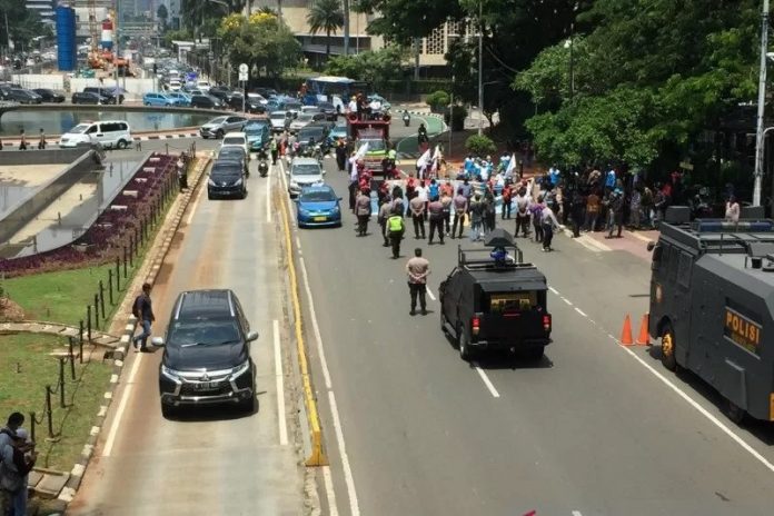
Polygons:
<instances>
[{"instance_id":1,"label":"pale, brown-stained road lane under the black SUV, left of yellow divider","mask_svg":"<svg viewBox=\"0 0 774 516\"><path fill-rule=\"evenodd\" d=\"M161 351L130 353L93 458L68 514L302 513L304 470L294 439L295 405L286 400L285 391L290 387L285 378L291 366L277 220L267 209L269 180L254 171L248 181L245 200L208 201L204 189L183 219L151 296L157 315L153 334L163 335L179 291L231 288L237 294L252 329L260 334L251 347L257 411L246 415L230 407L206 408L163 419L158 394ZM280 336L277 343L275 321ZM277 357L284 364L281 374L276 369ZM281 387L278 376L284 379ZM289 435L285 441L282 426Z\"/></svg>"}]
</instances>

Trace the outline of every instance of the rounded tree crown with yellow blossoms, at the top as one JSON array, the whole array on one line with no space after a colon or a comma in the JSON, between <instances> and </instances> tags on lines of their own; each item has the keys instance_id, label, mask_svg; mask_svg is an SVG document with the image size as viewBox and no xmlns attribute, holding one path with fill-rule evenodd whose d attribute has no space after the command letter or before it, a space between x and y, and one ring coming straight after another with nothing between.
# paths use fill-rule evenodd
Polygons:
<instances>
[{"instance_id":1,"label":"rounded tree crown with yellow blossoms, at the top","mask_svg":"<svg viewBox=\"0 0 774 516\"><path fill-rule=\"evenodd\" d=\"M218 36L232 63L246 62L269 77L278 77L301 57L301 44L290 29L266 12L256 12L249 19L230 14L221 20Z\"/></svg>"}]
</instances>

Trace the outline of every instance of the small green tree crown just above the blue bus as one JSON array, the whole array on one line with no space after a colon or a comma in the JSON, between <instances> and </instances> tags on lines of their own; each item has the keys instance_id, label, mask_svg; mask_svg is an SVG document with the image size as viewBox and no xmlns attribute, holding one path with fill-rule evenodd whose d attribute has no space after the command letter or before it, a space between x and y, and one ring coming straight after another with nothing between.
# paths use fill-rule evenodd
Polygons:
<instances>
[{"instance_id":1,"label":"small green tree crown just above the blue bus","mask_svg":"<svg viewBox=\"0 0 774 516\"><path fill-rule=\"evenodd\" d=\"M326 63L326 73L369 82L380 91L389 78L400 76L406 51L396 44L355 56L337 56Z\"/></svg>"}]
</instances>

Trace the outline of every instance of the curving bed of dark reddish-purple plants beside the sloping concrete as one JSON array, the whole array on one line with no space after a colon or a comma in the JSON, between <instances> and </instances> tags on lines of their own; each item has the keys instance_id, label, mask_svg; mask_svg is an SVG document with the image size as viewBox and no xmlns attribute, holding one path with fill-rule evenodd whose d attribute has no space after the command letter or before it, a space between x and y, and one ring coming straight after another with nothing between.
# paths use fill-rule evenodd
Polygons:
<instances>
[{"instance_id":1,"label":"curving bed of dark reddish-purple plants beside the sloping concrete","mask_svg":"<svg viewBox=\"0 0 774 516\"><path fill-rule=\"evenodd\" d=\"M123 248L135 242L141 225L150 219L160 205L165 185L176 177L177 156L153 153L123 187L137 196L119 194L95 224L68 246L12 259L0 259L0 272L6 277L96 266L123 256ZM146 171L153 167L156 171ZM175 191L175 190L172 190ZM121 207L120 209L115 209Z\"/></svg>"}]
</instances>

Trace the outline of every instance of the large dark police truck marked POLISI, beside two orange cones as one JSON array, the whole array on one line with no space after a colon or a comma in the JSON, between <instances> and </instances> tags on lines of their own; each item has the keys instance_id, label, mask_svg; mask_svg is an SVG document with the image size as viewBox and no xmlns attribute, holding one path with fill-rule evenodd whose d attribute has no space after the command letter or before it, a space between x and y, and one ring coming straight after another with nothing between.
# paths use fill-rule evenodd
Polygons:
<instances>
[{"instance_id":1,"label":"large dark police truck marked POLISI, beside two orange cones","mask_svg":"<svg viewBox=\"0 0 774 516\"><path fill-rule=\"evenodd\" d=\"M728 417L774 420L774 220L696 219L671 207L653 251L648 330Z\"/></svg>"}]
</instances>

